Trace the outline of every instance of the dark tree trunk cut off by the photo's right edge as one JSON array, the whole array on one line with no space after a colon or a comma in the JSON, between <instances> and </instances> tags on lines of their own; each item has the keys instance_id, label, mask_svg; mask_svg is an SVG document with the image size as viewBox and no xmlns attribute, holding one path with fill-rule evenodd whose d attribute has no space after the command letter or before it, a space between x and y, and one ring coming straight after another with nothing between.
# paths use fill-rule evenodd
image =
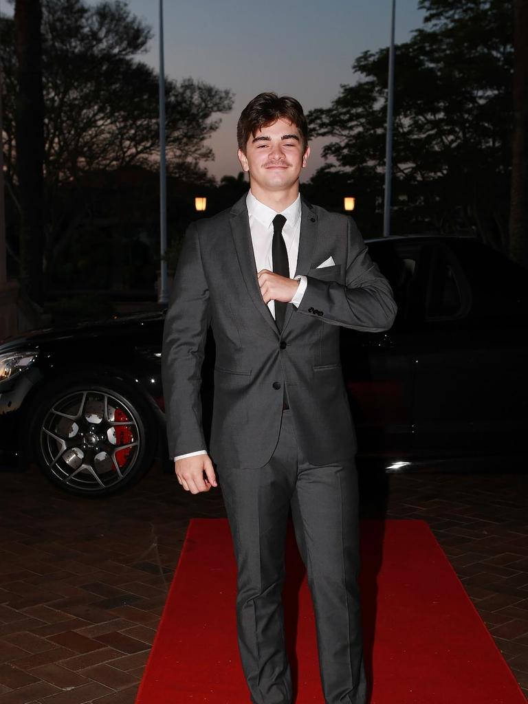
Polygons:
<instances>
[{"instance_id":1,"label":"dark tree trunk cut off by the photo's right edge","mask_svg":"<svg viewBox=\"0 0 528 704\"><path fill-rule=\"evenodd\" d=\"M528 268L528 0L514 0L510 256Z\"/></svg>"}]
</instances>

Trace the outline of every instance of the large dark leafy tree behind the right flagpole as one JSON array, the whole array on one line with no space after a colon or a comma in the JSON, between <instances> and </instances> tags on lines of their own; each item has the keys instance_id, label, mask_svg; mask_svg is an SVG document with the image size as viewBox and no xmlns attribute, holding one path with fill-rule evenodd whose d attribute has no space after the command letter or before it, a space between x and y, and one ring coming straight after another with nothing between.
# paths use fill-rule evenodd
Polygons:
<instances>
[{"instance_id":1,"label":"large dark leafy tree behind the right flagpole","mask_svg":"<svg viewBox=\"0 0 528 704\"><path fill-rule=\"evenodd\" d=\"M511 0L422 0L424 26L396 47L392 230L477 231L508 241ZM327 178L368 184L366 234L381 232L387 49L353 64L332 106L308 115L313 134L334 137ZM372 191L374 191L372 193ZM374 196L376 194L376 196ZM372 197L374 196L374 197ZM365 228L363 225L363 228Z\"/></svg>"}]
</instances>

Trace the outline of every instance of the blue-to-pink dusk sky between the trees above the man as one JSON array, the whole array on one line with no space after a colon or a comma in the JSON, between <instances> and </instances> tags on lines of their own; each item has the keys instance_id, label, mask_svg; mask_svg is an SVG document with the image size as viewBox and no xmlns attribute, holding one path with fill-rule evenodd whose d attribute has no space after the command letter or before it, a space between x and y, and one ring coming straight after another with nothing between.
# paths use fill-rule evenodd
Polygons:
<instances>
[{"instance_id":1,"label":"blue-to-pink dusk sky between the trees above the man","mask_svg":"<svg viewBox=\"0 0 528 704\"><path fill-rule=\"evenodd\" d=\"M1 1L1 0L0 0ZM96 4L96 0L89 0ZM396 42L420 27L418 0L397 0ZM151 25L154 37L142 56L158 68L158 0L129 0L130 10ZM1 1L4 12L11 12ZM327 107L341 83L355 80L351 65L365 49L389 43L391 0L165 0L165 73L191 76L235 94L231 113L210 143L215 161L204 165L216 177L236 175L236 125L256 94L291 94L305 111ZM396 58L396 77L397 77ZM322 140L311 143L303 180L322 164Z\"/></svg>"}]
</instances>

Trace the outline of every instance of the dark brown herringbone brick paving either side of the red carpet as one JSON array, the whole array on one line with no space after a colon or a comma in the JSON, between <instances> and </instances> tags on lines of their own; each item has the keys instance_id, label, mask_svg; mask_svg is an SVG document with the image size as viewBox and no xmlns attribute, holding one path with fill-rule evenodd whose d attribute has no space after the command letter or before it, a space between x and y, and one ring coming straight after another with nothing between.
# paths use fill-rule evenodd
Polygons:
<instances>
[{"instance_id":1,"label":"dark brown herringbone brick paving either side of the red carpet","mask_svg":"<svg viewBox=\"0 0 528 704\"><path fill-rule=\"evenodd\" d=\"M363 517L426 520L528 694L528 474L365 470ZM0 474L0 704L132 704L190 517L225 515L156 465L88 499Z\"/></svg>"}]
</instances>

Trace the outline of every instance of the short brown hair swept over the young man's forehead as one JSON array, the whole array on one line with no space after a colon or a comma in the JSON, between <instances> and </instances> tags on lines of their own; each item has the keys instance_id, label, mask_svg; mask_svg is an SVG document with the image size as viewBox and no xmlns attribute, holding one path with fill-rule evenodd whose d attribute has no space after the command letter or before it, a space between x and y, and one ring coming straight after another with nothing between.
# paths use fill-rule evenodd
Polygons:
<instances>
[{"instance_id":1,"label":"short brown hair swept over the young man's forehead","mask_svg":"<svg viewBox=\"0 0 528 704\"><path fill-rule=\"evenodd\" d=\"M260 93L249 101L241 112L237 125L239 149L246 153L246 144L250 134L256 136L262 127L274 125L277 120L288 120L301 132L303 153L308 147L308 122L303 113L303 106L295 98L276 93Z\"/></svg>"}]
</instances>

